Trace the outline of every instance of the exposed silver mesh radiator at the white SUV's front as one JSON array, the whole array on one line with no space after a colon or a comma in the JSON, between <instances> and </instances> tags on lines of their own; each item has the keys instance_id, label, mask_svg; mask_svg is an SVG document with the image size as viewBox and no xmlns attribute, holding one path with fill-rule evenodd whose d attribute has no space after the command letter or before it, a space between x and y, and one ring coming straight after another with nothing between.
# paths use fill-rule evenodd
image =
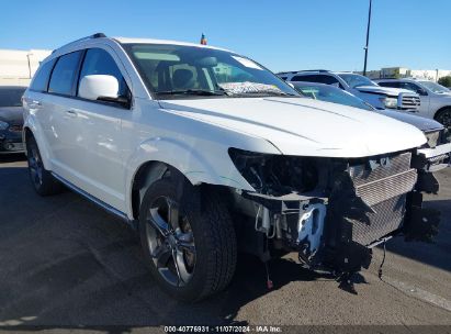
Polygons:
<instances>
[{"instance_id":1,"label":"exposed silver mesh radiator at the white SUV's front","mask_svg":"<svg viewBox=\"0 0 451 334\"><path fill-rule=\"evenodd\" d=\"M404 153L374 169L369 167L370 164L349 168L356 194L374 211L362 219L348 219L352 223L352 241L367 246L401 226L406 193L417 181L410 158L410 153Z\"/></svg>"}]
</instances>

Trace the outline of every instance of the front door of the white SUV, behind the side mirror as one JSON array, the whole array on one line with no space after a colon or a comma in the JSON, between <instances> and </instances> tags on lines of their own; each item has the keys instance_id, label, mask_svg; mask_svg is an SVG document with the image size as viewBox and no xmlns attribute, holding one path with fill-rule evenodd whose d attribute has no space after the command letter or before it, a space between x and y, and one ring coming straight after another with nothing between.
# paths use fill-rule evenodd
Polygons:
<instances>
[{"instance_id":1,"label":"front door of the white SUV, behind the side mirror","mask_svg":"<svg viewBox=\"0 0 451 334\"><path fill-rule=\"evenodd\" d=\"M81 65L78 82L90 75L113 76L120 84L117 94L129 98L129 89L123 73L125 74L125 70L112 49L106 46L89 48ZM126 211L123 179L124 141L121 136L121 126L123 118L131 118L129 107L78 98L74 111L82 129L82 189L104 203L122 212Z\"/></svg>"}]
</instances>

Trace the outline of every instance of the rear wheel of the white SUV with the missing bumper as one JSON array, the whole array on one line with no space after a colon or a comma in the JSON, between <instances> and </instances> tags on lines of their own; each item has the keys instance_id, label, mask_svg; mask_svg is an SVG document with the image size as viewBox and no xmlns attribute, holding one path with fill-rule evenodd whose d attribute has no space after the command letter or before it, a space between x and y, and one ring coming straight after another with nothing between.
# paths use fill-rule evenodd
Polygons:
<instances>
[{"instance_id":1,"label":"rear wheel of the white SUV with the missing bumper","mask_svg":"<svg viewBox=\"0 0 451 334\"><path fill-rule=\"evenodd\" d=\"M45 169L40 148L33 135L30 135L26 140L26 160L29 163L30 179L38 194L52 196L64 190L64 186Z\"/></svg>"}]
</instances>

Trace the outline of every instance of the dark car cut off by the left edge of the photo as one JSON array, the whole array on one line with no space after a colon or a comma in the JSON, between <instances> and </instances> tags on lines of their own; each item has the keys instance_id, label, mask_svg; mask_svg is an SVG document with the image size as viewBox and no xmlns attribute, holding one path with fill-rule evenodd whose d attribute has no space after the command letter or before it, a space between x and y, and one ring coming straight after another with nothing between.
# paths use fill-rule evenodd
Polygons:
<instances>
[{"instance_id":1,"label":"dark car cut off by the left edge of the photo","mask_svg":"<svg viewBox=\"0 0 451 334\"><path fill-rule=\"evenodd\" d=\"M26 87L0 86L0 154L24 151L22 94Z\"/></svg>"}]
</instances>

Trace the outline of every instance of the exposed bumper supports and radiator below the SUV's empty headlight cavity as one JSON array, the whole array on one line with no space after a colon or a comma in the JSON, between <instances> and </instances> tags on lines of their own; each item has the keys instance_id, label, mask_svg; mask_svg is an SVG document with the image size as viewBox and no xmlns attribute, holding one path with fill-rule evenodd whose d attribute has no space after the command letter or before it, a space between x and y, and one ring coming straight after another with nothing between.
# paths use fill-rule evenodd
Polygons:
<instances>
[{"instance_id":1,"label":"exposed bumper supports and radiator below the SUV's empty headlight cavity","mask_svg":"<svg viewBox=\"0 0 451 334\"><path fill-rule=\"evenodd\" d=\"M256 218L258 232L298 252L309 269L348 275L368 268L371 248L392 236L429 242L437 234L440 215L421 205L421 192L435 188L435 178L411 168L410 156L406 153L386 166L357 166L337 174L327 197L314 192L243 196L266 212L261 223Z\"/></svg>"}]
</instances>

